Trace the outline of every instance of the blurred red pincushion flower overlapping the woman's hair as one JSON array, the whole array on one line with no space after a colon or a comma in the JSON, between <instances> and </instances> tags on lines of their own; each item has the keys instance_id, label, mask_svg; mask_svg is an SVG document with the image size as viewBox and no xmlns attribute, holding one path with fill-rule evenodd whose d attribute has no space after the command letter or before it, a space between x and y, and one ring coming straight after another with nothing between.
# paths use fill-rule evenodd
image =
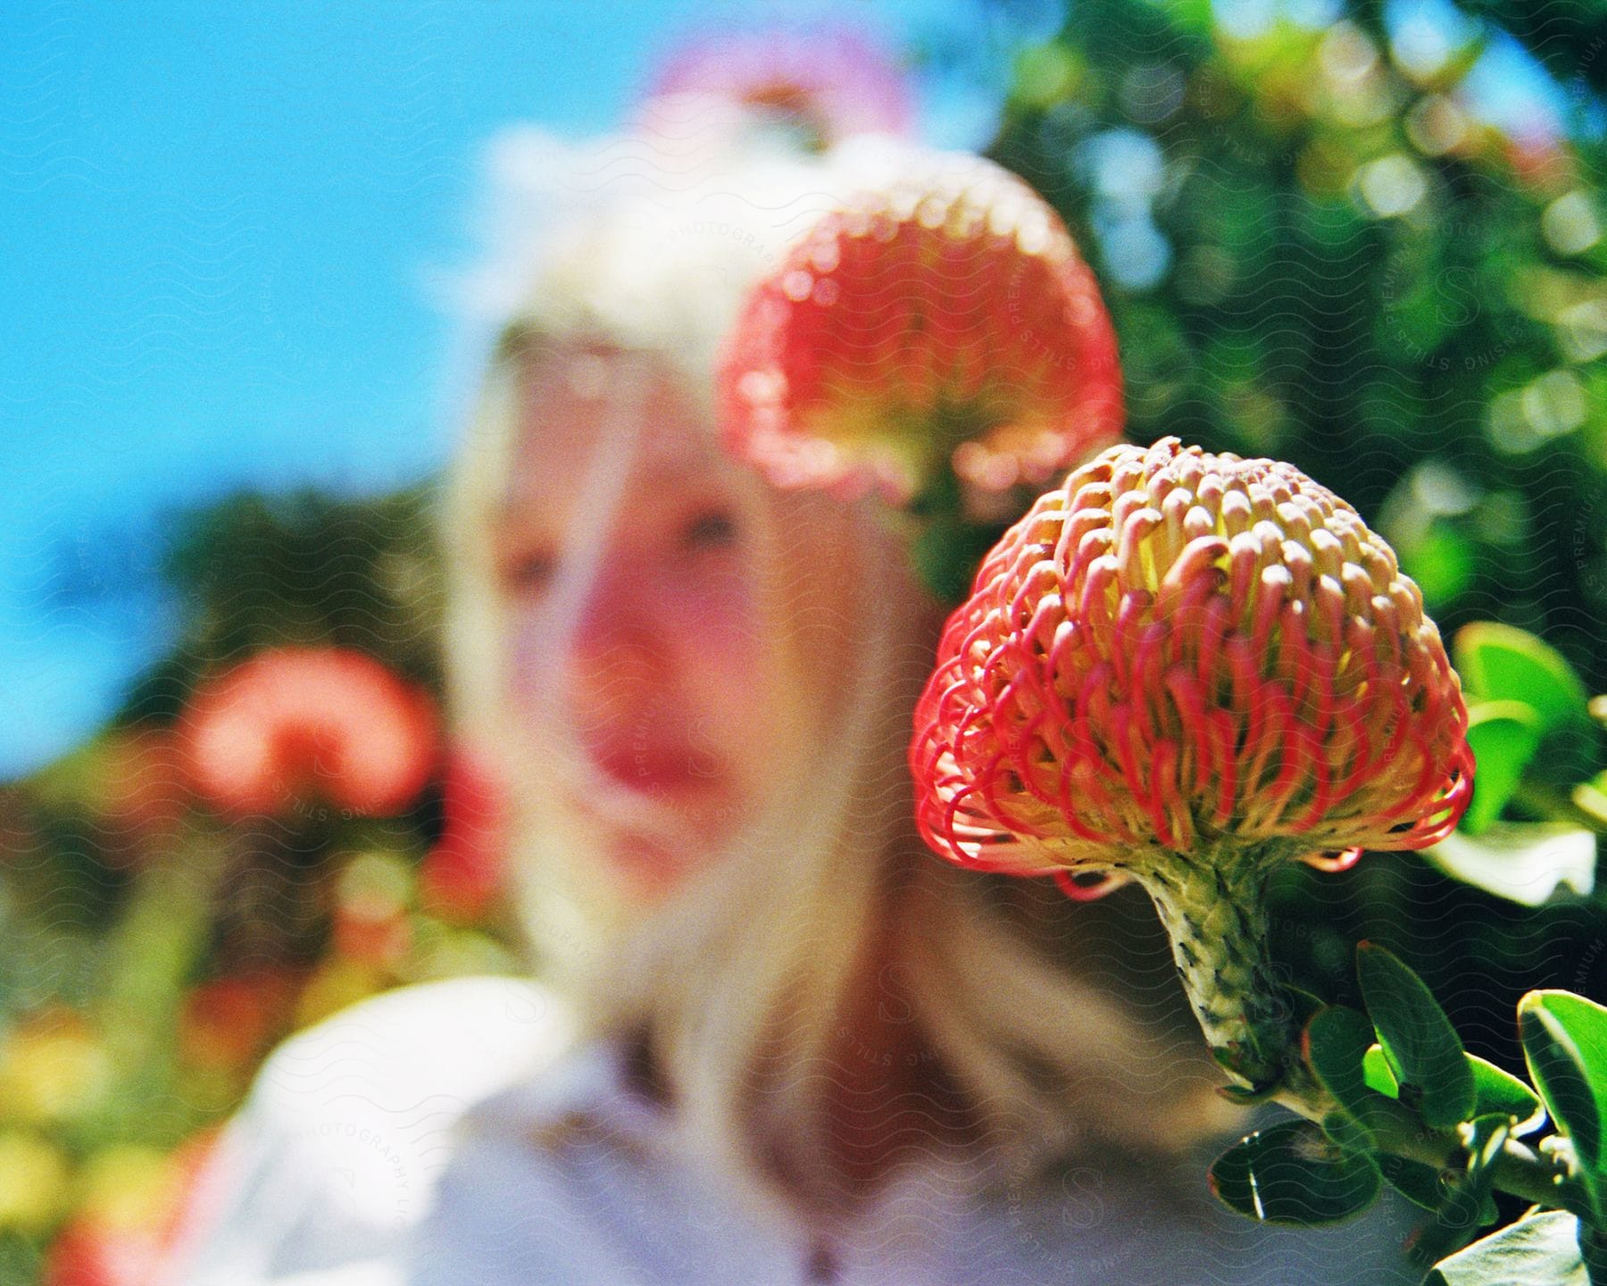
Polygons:
<instances>
[{"instance_id":1,"label":"blurred red pincushion flower overlapping the woman's hair","mask_svg":"<svg viewBox=\"0 0 1607 1286\"><path fill-rule=\"evenodd\" d=\"M1115 440L1115 333L1054 211L977 156L853 161L890 177L824 215L731 331L726 444L781 487L905 503L945 465L1000 492Z\"/></svg>"}]
</instances>

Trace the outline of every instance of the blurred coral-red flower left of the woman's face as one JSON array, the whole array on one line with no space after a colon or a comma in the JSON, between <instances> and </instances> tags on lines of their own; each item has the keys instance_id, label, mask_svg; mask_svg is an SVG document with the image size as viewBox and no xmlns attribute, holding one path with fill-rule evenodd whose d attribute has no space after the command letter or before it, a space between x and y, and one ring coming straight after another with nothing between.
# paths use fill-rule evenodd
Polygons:
<instances>
[{"instance_id":1,"label":"blurred coral-red flower left of the woman's face","mask_svg":"<svg viewBox=\"0 0 1607 1286\"><path fill-rule=\"evenodd\" d=\"M429 694L344 648L276 648L209 678L182 736L196 792L236 817L312 801L399 812L429 780L437 743Z\"/></svg>"}]
</instances>

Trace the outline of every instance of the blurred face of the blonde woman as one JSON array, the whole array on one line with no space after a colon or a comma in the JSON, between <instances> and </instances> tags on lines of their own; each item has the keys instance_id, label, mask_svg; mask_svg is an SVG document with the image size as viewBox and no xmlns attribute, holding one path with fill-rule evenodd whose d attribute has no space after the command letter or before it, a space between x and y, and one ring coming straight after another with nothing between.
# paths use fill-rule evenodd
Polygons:
<instances>
[{"instance_id":1,"label":"blurred face of the blonde woman","mask_svg":"<svg viewBox=\"0 0 1607 1286\"><path fill-rule=\"evenodd\" d=\"M649 895L752 817L778 752L759 492L702 416L640 358L535 358L493 529L513 701L577 746L564 802Z\"/></svg>"}]
</instances>

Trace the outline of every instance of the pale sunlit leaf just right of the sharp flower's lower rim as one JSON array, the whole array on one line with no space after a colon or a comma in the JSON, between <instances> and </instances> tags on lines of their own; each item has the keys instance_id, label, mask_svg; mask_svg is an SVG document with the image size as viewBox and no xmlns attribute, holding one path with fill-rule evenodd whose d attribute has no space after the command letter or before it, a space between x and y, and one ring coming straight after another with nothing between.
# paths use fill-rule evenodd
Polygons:
<instances>
[{"instance_id":1,"label":"pale sunlit leaf just right of the sharp flower's lower rim","mask_svg":"<svg viewBox=\"0 0 1607 1286\"><path fill-rule=\"evenodd\" d=\"M1567 886L1580 897L1596 887L1596 836L1567 821L1496 821L1480 836L1453 831L1424 857L1453 879L1540 907Z\"/></svg>"}]
</instances>

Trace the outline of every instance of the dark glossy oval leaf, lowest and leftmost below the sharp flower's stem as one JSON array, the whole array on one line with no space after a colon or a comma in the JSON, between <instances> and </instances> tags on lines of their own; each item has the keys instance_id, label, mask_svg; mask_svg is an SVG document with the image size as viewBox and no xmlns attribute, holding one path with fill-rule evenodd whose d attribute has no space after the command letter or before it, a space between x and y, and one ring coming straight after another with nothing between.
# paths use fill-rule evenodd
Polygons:
<instances>
[{"instance_id":1,"label":"dark glossy oval leaf, lowest and leftmost below the sharp flower's stem","mask_svg":"<svg viewBox=\"0 0 1607 1286\"><path fill-rule=\"evenodd\" d=\"M1334 1146L1310 1120L1287 1120L1236 1143L1210 1167L1210 1190L1265 1223L1334 1223L1379 1194L1379 1167Z\"/></svg>"}]
</instances>

